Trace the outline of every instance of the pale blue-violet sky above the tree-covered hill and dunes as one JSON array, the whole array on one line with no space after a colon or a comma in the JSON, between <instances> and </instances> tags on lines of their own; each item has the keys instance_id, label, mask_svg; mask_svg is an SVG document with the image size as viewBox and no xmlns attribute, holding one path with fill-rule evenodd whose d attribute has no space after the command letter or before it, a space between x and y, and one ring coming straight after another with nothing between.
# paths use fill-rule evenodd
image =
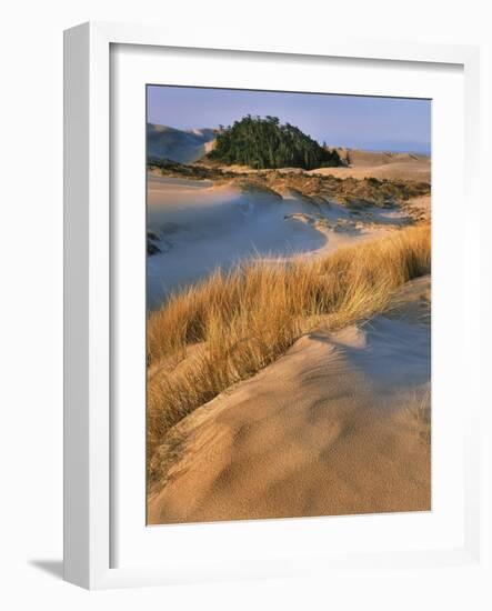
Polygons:
<instances>
[{"instance_id":1,"label":"pale blue-violet sky above the tree-covered hill and dunes","mask_svg":"<svg viewBox=\"0 0 492 611\"><path fill-rule=\"evenodd\" d=\"M177 129L229 126L272 114L320 143L430 153L431 101L238 89L148 87L148 120Z\"/></svg>"}]
</instances>

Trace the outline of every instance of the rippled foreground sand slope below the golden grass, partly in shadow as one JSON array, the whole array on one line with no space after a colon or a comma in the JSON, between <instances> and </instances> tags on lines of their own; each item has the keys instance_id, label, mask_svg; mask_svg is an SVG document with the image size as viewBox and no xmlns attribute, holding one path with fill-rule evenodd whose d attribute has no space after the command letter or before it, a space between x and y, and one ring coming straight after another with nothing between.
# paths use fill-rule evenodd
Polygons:
<instances>
[{"instance_id":1,"label":"rippled foreground sand slope below the golden grass, partly in shadow","mask_svg":"<svg viewBox=\"0 0 492 611\"><path fill-rule=\"evenodd\" d=\"M429 510L430 278L395 304L302 337L181 421L149 523Z\"/></svg>"}]
</instances>

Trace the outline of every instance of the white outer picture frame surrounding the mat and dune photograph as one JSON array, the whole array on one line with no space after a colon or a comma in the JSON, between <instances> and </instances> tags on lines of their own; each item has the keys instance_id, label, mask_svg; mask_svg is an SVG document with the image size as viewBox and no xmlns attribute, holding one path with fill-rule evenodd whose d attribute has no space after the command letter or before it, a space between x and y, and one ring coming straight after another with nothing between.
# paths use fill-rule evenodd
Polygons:
<instances>
[{"instance_id":1,"label":"white outer picture frame surrounding the mat and dune photograph","mask_svg":"<svg viewBox=\"0 0 492 611\"><path fill-rule=\"evenodd\" d=\"M479 412L481 397L470 394L469 413L463 428L463 540L452 547L438 545L425 550L347 550L335 561L313 550L279 553L275 562L238 554L225 562L207 565L195 563L188 570L181 564L127 562L113 565L111 538L114 535L113 469L116 453L111 393L111 335L114 322L111 313L112 267L110 237L114 227L111 216L111 46L139 46L145 49L210 50L207 33L184 36L160 28L112 23L86 23L66 32L64 37L64 577L78 585L99 589L145 584L189 583L220 579L243 579L271 575L305 574L328 569L355 569L395 564L414 565L464 564L480 558L479 495ZM466 207L480 214L476 197L476 151L479 139L479 51L473 47L411 44L383 41L350 41L331 37L329 42L273 46L268 41L217 41L214 48L223 56L255 53L259 60L289 56L317 58L367 59L374 62L429 63L439 67L459 66L464 78L464 199ZM142 134L143 136L143 134ZM476 222L475 216L475 222ZM476 223L479 226L479 223ZM473 231L471 229L470 231ZM470 269L479 269L478 239L466 241ZM469 274L468 296L480 278ZM473 299L468 297L469 300ZM468 303L471 308L473 304ZM466 341L473 342L469 323ZM479 351L476 351L479 353ZM479 368L476 368L478 370ZM472 371L472 370L471 370ZM470 373L473 375L473 372ZM479 384L476 384L479 388ZM143 465L142 465L143 470ZM143 503L143 499L142 499ZM384 517L379 517L380 522ZM345 519L350 520L350 518ZM284 529L291 528L289 520ZM299 521L298 521L299 524ZM314 522L310 529L315 533ZM144 524L142 524L144 527ZM198 537L194 525L188 529L188 540ZM210 524L207 528L213 528ZM228 537L238 524L222 527ZM255 527L254 527L255 528ZM259 527L261 528L261 525ZM293 528L293 527L292 527ZM299 531L299 527L295 527ZM375 528L375 525L374 525ZM194 529L194 530L193 530ZM314 530L313 530L314 529ZM152 529L150 529L151 531ZM214 537L219 531L214 531ZM287 532L287 531L284 531ZM300 531L298 532L298 535ZM165 535L165 533L164 533ZM152 537L152 534L151 534ZM224 534L222 534L224 537ZM191 543L190 543L191 544Z\"/></svg>"}]
</instances>

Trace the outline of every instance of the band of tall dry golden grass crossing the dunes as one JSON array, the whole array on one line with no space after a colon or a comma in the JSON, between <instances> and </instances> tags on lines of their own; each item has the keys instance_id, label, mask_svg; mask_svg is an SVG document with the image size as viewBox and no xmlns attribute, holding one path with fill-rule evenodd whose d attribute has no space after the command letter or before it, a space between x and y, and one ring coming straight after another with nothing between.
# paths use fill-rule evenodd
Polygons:
<instances>
[{"instance_id":1,"label":"band of tall dry golden grass crossing the dunes","mask_svg":"<svg viewBox=\"0 0 492 611\"><path fill-rule=\"evenodd\" d=\"M384 310L430 264L430 228L420 226L325 258L252 261L173 294L148 321L150 482L152 455L181 419L321 321L335 330Z\"/></svg>"}]
</instances>

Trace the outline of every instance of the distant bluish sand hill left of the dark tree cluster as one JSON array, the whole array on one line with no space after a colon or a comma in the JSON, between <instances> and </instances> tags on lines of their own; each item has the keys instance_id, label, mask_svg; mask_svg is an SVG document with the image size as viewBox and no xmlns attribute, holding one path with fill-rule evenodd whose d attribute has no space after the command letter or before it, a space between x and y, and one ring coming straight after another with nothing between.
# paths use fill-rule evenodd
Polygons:
<instances>
[{"instance_id":1,"label":"distant bluish sand hill left of the dark tree cluster","mask_svg":"<svg viewBox=\"0 0 492 611\"><path fill-rule=\"evenodd\" d=\"M192 163L211 150L213 129L178 130L168 126L147 124L148 156Z\"/></svg>"}]
</instances>

